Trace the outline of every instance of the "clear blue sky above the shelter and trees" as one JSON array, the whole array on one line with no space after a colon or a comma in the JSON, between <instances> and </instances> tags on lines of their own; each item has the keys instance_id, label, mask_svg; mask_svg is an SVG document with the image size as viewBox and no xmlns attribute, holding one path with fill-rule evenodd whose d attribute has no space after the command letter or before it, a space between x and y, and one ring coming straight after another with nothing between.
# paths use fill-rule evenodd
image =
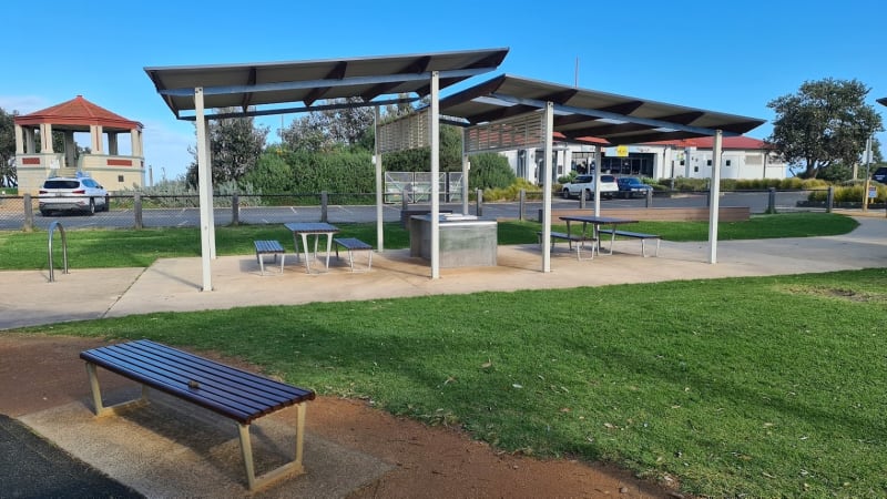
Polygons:
<instances>
[{"instance_id":1,"label":"clear blue sky above the shelter and trees","mask_svg":"<svg viewBox=\"0 0 887 499\"><path fill-rule=\"evenodd\" d=\"M157 181L185 172L194 128L175 120L145 67L509 48L497 72L469 83L501 73L578 79L584 89L767 120L748 133L763 139L774 118L767 102L804 81L857 79L887 116L875 102L887 96L886 13L883 0L7 2L0 108L30 113L83 95L140 121ZM281 118L259 123L274 139ZM887 144L887 134L878 139Z\"/></svg>"}]
</instances>

